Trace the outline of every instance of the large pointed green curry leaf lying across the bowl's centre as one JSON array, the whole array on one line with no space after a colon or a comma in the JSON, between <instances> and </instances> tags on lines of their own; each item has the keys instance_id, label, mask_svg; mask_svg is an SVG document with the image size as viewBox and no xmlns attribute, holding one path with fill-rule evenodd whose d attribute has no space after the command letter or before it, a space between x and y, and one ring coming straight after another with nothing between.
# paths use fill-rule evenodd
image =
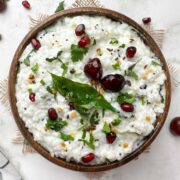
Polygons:
<instances>
[{"instance_id":1,"label":"large pointed green curry leaf lying across the bowl's centre","mask_svg":"<svg viewBox=\"0 0 180 180\"><path fill-rule=\"evenodd\" d=\"M68 101L75 103L76 110L79 111L80 114L84 114L92 108L117 112L117 110L90 85L75 82L55 74L51 74L51 76L54 88Z\"/></svg>"}]
</instances>

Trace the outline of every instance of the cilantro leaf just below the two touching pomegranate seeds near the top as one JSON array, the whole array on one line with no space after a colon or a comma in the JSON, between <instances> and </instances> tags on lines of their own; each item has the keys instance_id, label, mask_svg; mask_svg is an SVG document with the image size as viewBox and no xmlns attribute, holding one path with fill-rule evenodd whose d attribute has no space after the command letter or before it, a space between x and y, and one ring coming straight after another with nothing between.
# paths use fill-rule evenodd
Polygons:
<instances>
[{"instance_id":1,"label":"cilantro leaf just below the two touching pomegranate seeds near the top","mask_svg":"<svg viewBox=\"0 0 180 180\"><path fill-rule=\"evenodd\" d=\"M80 48L78 45L71 45L71 59L73 62L77 62L83 59L84 55L87 54L89 48Z\"/></svg>"}]
</instances>

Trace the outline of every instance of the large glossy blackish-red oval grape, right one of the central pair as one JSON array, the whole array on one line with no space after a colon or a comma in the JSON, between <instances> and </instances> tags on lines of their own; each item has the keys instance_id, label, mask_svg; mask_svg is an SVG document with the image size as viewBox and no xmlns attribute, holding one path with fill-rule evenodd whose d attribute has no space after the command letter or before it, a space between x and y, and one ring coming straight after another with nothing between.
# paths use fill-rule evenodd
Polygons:
<instances>
[{"instance_id":1,"label":"large glossy blackish-red oval grape, right one of the central pair","mask_svg":"<svg viewBox=\"0 0 180 180\"><path fill-rule=\"evenodd\" d=\"M102 87L104 90L110 90L113 92L120 91L126 84L125 79L120 74L110 74L105 76L101 80Z\"/></svg>"}]
</instances>

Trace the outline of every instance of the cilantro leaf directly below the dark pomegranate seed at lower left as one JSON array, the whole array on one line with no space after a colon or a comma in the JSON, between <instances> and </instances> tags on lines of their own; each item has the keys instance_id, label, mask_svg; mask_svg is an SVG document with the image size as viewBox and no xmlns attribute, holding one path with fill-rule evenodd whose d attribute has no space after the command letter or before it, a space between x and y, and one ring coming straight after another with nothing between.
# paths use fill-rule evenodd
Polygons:
<instances>
[{"instance_id":1,"label":"cilantro leaf directly below the dark pomegranate seed at lower left","mask_svg":"<svg viewBox=\"0 0 180 180\"><path fill-rule=\"evenodd\" d=\"M51 119L48 119L46 123L46 128L54 131L60 131L63 127L67 125L68 123L63 120L53 121Z\"/></svg>"}]
</instances>

